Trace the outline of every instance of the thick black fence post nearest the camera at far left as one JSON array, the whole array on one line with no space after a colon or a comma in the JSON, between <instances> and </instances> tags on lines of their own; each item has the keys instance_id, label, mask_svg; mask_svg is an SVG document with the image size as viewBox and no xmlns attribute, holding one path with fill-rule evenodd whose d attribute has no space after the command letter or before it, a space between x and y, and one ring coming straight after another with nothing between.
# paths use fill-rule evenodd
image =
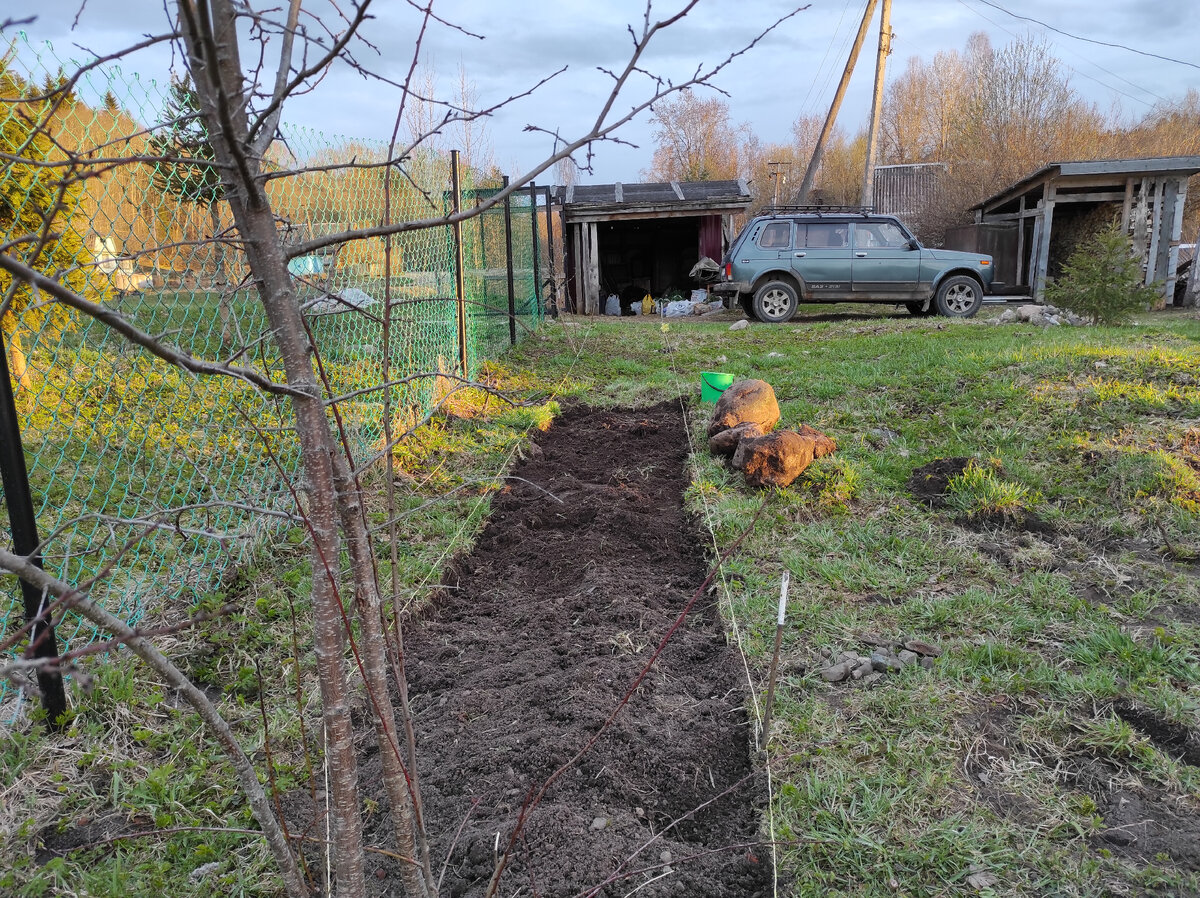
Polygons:
<instances>
[{"instance_id":1,"label":"thick black fence post nearest the camera at far left","mask_svg":"<svg viewBox=\"0 0 1200 898\"><path fill-rule=\"evenodd\" d=\"M4 359L4 372L0 376L0 480L4 484L8 521L12 525L12 547L17 555L42 567L42 556L37 551L41 539L37 537L34 497L29 491L29 472L25 469L25 451L20 444L20 421L17 419L17 402L13 399L12 381L8 375L8 348L4 342L2 328L0 328L0 357ZM44 601L42 591L22 580L20 593L25 600L25 622L34 621L29 633L30 649L26 654L34 658L58 658L59 643L54 636L54 625L49 616L40 619ZM67 710L62 675L59 671L40 669L37 686L42 690L42 707L54 725Z\"/></svg>"}]
</instances>

